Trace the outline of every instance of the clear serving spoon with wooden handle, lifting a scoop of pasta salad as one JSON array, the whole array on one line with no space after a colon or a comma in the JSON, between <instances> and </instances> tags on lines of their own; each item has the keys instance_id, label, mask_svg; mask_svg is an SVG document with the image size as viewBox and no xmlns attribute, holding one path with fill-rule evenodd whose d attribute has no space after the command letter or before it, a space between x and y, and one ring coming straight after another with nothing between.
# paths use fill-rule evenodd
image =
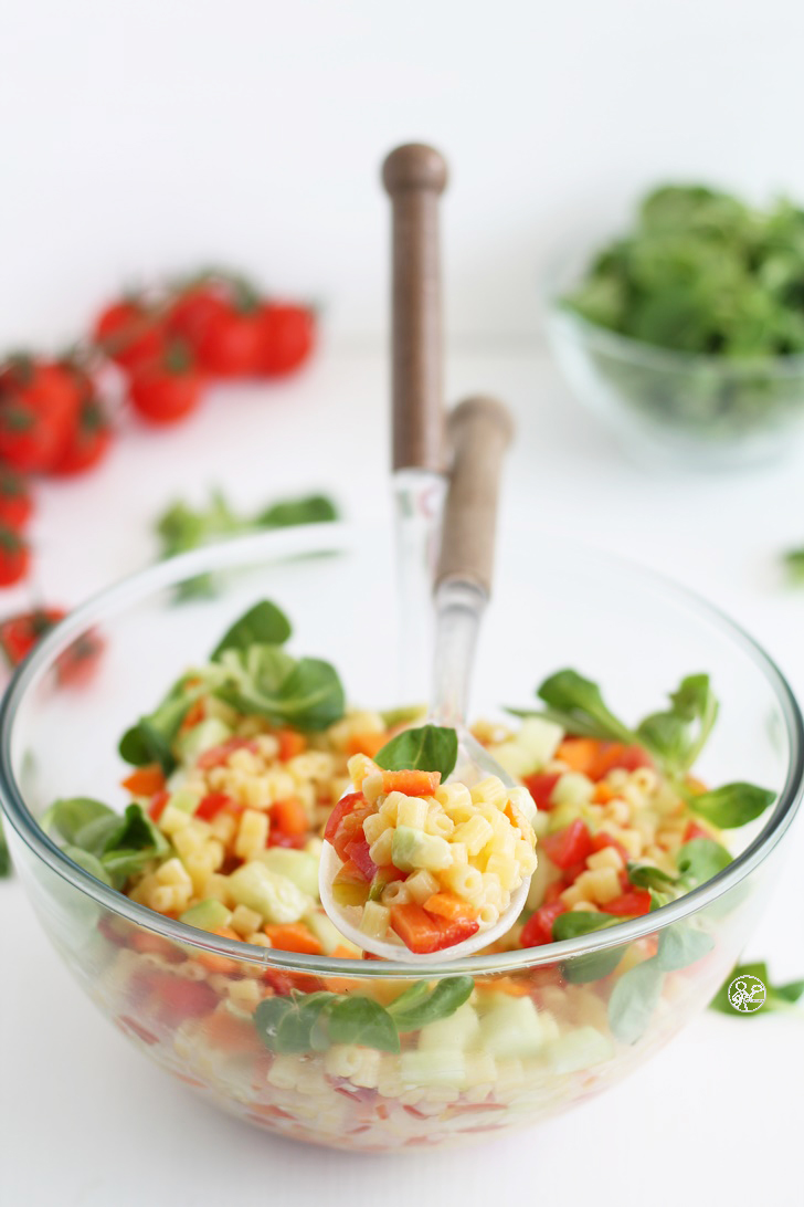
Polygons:
<instances>
[{"instance_id":1,"label":"clear serving spoon with wooden handle, lifting a scoop of pasta salad","mask_svg":"<svg viewBox=\"0 0 804 1207\"><path fill-rule=\"evenodd\" d=\"M491 595L503 454L511 436L509 413L494 398L468 398L456 408L450 419L454 462L435 578L435 658L433 696L427 721L456 730L458 759L447 782L458 781L469 787L489 775L498 776L509 788L515 787L513 780L465 725L477 636ZM511 893L507 909L487 929L477 931L470 938L440 951L417 954L410 951L401 940L377 939L359 929L360 906L339 905L333 896L333 882L340 868L341 861L335 849L324 841L318 888L325 912L338 929L358 946L375 956L406 963L459 960L494 943L516 922L530 887L528 876Z\"/></svg>"}]
</instances>

